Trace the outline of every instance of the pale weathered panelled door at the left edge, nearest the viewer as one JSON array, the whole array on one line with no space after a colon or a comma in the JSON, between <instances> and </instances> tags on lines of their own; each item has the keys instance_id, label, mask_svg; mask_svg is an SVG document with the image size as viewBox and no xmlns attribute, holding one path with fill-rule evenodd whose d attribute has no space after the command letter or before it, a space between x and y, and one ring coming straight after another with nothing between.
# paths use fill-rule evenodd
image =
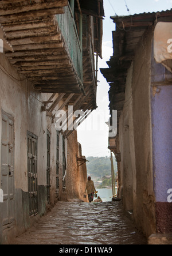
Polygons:
<instances>
[{"instance_id":1,"label":"pale weathered panelled door at the left edge, nearest the viewer","mask_svg":"<svg viewBox=\"0 0 172 256\"><path fill-rule=\"evenodd\" d=\"M14 224L14 123L13 119L2 112L1 137L1 184L3 191L2 225L3 229Z\"/></svg>"}]
</instances>

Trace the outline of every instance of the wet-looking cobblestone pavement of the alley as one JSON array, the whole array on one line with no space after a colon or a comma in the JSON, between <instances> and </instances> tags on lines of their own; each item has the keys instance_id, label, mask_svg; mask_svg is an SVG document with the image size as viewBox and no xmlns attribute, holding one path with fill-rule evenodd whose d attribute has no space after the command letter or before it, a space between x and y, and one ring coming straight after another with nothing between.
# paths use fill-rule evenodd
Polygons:
<instances>
[{"instance_id":1,"label":"wet-looking cobblestone pavement of the alley","mask_svg":"<svg viewBox=\"0 0 172 256\"><path fill-rule=\"evenodd\" d=\"M58 202L13 244L147 244L121 202Z\"/></svg>"}]
</instances>

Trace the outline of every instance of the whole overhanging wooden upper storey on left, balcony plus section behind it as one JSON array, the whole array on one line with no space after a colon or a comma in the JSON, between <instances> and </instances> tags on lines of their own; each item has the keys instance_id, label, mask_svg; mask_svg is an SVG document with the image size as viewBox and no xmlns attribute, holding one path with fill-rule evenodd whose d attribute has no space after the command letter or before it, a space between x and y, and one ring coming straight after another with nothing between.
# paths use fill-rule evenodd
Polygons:
<instances>
[{"instance_id":1,"label":"whole overhanging wooden upper storey on left, balcony plus section behind it","mask_svg":"<svg viewBox=\"0 0 172 256\"><path fill-rule=\"evenodd\" d=\"M6 58L35 91L52 93L41 108L52 122L55 108L72 105L73 111L83 110L88 116L97 107L94 55L101 57L103 0L70 0L70 4L0 1L0 29L12 48L5 48ZM79 122L84 119L81 116Z\"/></svg>"}]
</instances>

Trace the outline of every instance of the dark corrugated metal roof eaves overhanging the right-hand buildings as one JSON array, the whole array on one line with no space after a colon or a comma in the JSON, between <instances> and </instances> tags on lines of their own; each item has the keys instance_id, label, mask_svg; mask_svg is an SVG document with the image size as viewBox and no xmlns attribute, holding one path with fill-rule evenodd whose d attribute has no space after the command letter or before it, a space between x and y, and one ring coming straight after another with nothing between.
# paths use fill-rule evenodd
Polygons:
<instances>
[{"instance_id":1,"label":"dark corrugated metal roof eaves overhanging the right-hand buildings","mask_svg":"<svg viewBox=\"0 0 172 256\"><path fill-rule=\"evenodd\" d=\"M172 22L172 9L111 18L116 23L116 31L113 32L114 55L107 62L109 68L100 69L100 71L110 83L110 110L118 110L118 114L120 114L125 99L127 70L134 58L135 48L142 39L144 32L155 22Z\"/></svg>"}]
</instances>

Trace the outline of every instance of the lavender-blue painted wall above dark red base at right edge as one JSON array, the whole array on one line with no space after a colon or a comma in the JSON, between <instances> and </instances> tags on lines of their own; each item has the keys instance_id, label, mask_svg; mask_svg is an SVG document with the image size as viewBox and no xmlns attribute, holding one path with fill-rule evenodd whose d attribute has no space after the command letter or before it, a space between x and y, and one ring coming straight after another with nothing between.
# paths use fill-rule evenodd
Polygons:
<instances>
[{"instance_id":1,"label":"lavender-blue painted wall above dark red base at right edge","mask_svg":"<svg viewBox=\"0 0 172 256\"><path fill-rule=\"evenodd\" d=\"M154 191L157 202L167 202L172 189L172 84L151 90Z\"/></svg>"}]
</instances>

